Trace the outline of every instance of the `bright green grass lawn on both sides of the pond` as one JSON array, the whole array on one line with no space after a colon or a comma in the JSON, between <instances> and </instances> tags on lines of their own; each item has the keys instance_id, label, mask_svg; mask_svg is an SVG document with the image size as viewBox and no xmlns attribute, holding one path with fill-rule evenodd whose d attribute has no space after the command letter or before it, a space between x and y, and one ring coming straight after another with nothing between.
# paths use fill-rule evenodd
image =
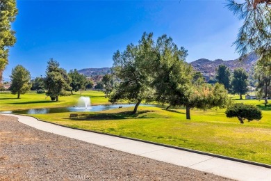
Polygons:
<instances>
[{"instance_id":1,"label":"bright green grass lawn on both sides of the pond","mask_svg":"<svg viewBox=\"0 0 271 181\"><path fill-rule=\"evenodd\" d=\"M60 97L59 102L51 102L49 98L45 100L44 94L27 93L18 100L16 95L0 93L0 111L73 106L80 96L76 93ZM108 104L104 93L99 91L86 91L82 96L90 96L92 104ZM191 111L191 120L186 120L183 109L166 111L157 107L139 107L136 115L131 115L131 107L101 112L78 112L78 119L69 119L70 113L33 116L59 125L271 164L270 104L264 107L263 100L238 100L238 96L232 97L235 102L254 104L262 109L262 120L241 125L237 118L227 118L222 109L194 109Z\"/></svg>"}]
</instances>

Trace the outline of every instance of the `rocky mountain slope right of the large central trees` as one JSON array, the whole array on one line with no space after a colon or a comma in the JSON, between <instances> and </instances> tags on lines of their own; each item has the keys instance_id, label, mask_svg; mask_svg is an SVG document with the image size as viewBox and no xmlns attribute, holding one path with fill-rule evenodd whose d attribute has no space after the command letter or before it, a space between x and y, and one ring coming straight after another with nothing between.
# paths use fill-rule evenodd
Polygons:
<instances>
[{"instance_id":1,"label":"rocky mountain slope right of the large central trees","mask_svg":"<svg viewBox=\"0 0 271 181\"><path fill-rule=\"evenodd\" d=\"M258 56L252 52L247 54L242 61L240 59L230 60L230 61L223 61L222 59L216 59L215 61L210 61L205 58L201 58L197 61L192 61L190 64L192 67L199 72L202 72L206 80L210 79L211 77L215 77L216 69L219 65L223 64L226 65L231 71L236 68L245 68L245 70L250 74L253 71L254 65L258 60Z\"/></svg>"}]
</instances>

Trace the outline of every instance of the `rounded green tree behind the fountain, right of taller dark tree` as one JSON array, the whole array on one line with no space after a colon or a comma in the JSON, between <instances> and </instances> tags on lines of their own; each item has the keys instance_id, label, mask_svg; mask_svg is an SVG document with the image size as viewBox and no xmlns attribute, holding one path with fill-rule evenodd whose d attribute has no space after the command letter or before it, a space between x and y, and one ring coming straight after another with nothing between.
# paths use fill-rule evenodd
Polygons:
<instances>
[{"instance_id":1,"label":"rounded green tree behind the fountain, right of taller dark tree","mask_svg":"<svg viewBox=\"0 0 271 181\"><path fill-rule=\"evenodd\" d=\"M71 93L72 91L77 92L85 88L85 85L87 84L87 78L85 77L85 75L79 74L79 72L74 69L69 71L69 77L72 78L72 82L71 84L69 84L69 86L72 87Z\"/></svg>"}]
</instances>

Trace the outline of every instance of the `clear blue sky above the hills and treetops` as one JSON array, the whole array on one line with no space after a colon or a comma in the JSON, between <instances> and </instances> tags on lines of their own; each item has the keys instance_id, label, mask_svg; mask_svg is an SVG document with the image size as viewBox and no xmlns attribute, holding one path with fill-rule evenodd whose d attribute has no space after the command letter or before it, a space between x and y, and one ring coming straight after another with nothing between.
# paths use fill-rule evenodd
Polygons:
<instances>
[{"instance_id":1,"label":"clear blue sky above the hills and treetops","mask_svg":"<svg viewBox=\"0 0 271 181\"><path fill-rule=\"evenodd\" d=\"M117 49L136 44L142 33L166 33L188 49L187 61L238 58L241 23L225 1L25 1L18 0L17 43L4 72L21 64L32 77L44 75L54 58L67 71L113 65Z\"/></svg>"}]
</instances>

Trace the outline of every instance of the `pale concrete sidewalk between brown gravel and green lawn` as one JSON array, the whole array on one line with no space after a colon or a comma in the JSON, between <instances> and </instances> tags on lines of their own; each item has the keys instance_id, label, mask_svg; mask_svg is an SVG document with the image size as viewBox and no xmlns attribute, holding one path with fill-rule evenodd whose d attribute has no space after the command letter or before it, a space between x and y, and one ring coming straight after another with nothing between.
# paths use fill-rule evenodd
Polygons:
<instances>
[{"instance_id":1,"label":"pale concrete sidewalk between brown gravel and green lawn","mask_svg":"<svg viewBox=\"0 0 271 181\"><path fill-rule=\"evenodd\" d=\"M235 180L270 180L271 169L262 166L254 166L234 162L227 159L220 159L207 155L200 155L194 152L187 152L168 148L161 145L151 143L143 143L130 139L122 139L115 136L86 132L67 127L62 127L50 123L45 123L28 116L19 116L12 114L3 114L6 116L15 116L20 123L24 123L36 129L45 132L51 132L62 136L67 136L72 139L78 139L88 143L105 146L114 150L129 152L134 155L156 159L158 161L185 166L188 168L213 173L226 178Z\"/></svg>"}]
</instances>

